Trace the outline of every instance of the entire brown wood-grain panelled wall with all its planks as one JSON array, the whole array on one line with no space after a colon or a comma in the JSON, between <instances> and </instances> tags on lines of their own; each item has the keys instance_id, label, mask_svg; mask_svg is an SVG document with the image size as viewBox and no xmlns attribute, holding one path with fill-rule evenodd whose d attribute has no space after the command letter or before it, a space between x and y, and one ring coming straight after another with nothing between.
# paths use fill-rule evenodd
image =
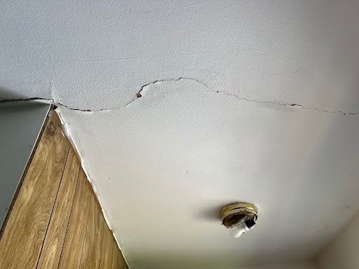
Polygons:
<instances>
[{"instance_id":1,"label":"entire brown wood-grain panelled wall with all its planks","mask_svg":"<svg viewBox=\"0 0 359 269\"><path fill-rule=\"evenodd\" d=\"M0 268L127 269L56 113L27 167L0 239Z\"/></svg>"}]
</instances>

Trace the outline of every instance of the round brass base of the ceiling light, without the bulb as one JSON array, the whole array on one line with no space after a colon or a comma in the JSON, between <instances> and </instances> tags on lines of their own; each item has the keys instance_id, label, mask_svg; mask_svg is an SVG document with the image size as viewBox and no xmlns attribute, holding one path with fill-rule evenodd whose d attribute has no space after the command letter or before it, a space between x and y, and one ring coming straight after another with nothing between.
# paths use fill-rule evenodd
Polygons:
<instances>
[{"instance_id":1,"label":"round brass base of the ceiling light, without the bulb","mask_svg":"<svg viewBox=\"0 0 359 269\"><path fill-rule=\"evenodd\" d=\"M257 221L258 209L250 202L233 202L219 212L219 219L226 228L238 226L243 221Z\"/></svg>"}]
</instances>

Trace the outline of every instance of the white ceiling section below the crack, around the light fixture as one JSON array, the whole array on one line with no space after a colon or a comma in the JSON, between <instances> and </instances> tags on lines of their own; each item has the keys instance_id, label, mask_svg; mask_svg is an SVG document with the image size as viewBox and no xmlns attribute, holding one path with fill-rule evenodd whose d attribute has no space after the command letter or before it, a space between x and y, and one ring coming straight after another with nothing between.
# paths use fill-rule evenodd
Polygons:
<instances>
[{"instance_id":1,"label":"white ceiling section below the crack, around the light fixture","mask_svg":"<svg viewBox=\"0 0 359 269\"><path fill-rule=\"evenodd\" d=\"M60 112L134 268L310 259L359 208L358 116L192 80L155 83L123 109ZM259 206L239 240L217 219L236 200Z\"/></svg>"}]
</instances>

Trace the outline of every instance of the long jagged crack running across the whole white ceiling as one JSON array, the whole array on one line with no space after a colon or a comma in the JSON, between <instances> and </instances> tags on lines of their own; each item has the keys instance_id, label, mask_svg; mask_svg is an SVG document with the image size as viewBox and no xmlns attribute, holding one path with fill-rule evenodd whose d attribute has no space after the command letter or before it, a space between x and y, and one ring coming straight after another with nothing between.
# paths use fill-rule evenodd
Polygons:
<instances>
[{"instance_id":1,"label":"long jagged crack running across the whole white ceiling","mask_svg":"<svg viewBox=\"0 0 359 269\"><path fill-rule=\"evenodd\" d=\"M73 110L73 111L81 111L81 112L100 112L100 111L116 111L116 110L120 110L123 109L126 106L129 106L130 104L132 104L133 102L135 102L137 99L139 99L140 97L142 97L142 93L144 92L144 90L146 90L147 88L151 87L151 85L155 85L157 83L161 83L161 82L166 82L166 81L196 81L197 83L200 83L201 85L204 85L205 88L207 88L208 90L210 90L211 92L215 92L215 93L222 93L224 95L228 95L228 96L232 96L235 97L236 99L238 99L239 101L245 101L245 102L254 102L257 104L273 104L276 106L299 106L302 109L308 109L311 111L318 111L318 112L323 112L323 113L333 113L333 114L341 114L343 116L358 116L359 112L343 112L343 111L329 111L329 110L324 110L324 109L318 109L315 107L308 107L308 106L303 106L302 104L294 104L294 103L280 103L280 102L275 102L275 101L261 101L258 99L249 99L246 97L238 97L238 95L233 94L233 93L228 93L228 92L224 92L222 90L212 90L208 87L208 85L206 85L205 83L203 83L202 81L199 81L197 78L185 78L185 77L179 77L179 78L168 78L168 79L162 79L162 80L157 80L157 81L153 81L151 83L147 83L141 86L141 89L136 93L135 97L133 97L133 99L128 102L125 106L121 106L118 108L114 108L114 109L97 109L97 110L90 110L90 109L76 109L74 107L70 107L67 106L65 104L62 104L60 102L55 102L55 97L53 97L53 91L51 91L51 96L53 97L53 99L45 99L45 98L41 98L41 97L33 97L33 98L27 98L27 99L11 99L11 100L1 100L0 102L11 102L11 101L39 101L39 102L47 102L50 104L55 104L56 106L63 106L67 109Z\"/></svg>"}]
</instances>

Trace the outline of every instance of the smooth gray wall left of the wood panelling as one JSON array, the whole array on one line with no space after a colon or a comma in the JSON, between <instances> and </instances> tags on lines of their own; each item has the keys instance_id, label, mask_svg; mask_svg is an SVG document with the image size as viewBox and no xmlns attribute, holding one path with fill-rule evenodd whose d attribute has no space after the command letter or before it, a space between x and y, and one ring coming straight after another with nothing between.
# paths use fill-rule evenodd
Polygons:
<instances>
[{"instance_id":1,"label":"smooth gray wall left of the wood panelling","mask_svg":"<svg viewBox=\"0 0 359 269\"><path fill-rule=\"evenodd\" d=\"M0 103L0 228L49 109L36 102Z\"/></svg>"}]
</instances>

